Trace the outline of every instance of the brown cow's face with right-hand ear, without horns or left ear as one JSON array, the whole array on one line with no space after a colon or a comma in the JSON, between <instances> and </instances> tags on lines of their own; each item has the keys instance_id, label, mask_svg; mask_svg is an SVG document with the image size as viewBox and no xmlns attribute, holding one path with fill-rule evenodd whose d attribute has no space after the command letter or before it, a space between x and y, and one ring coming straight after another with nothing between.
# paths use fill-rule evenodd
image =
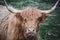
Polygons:
<instances>
[{"instance_id":1,"label":"brown cow's face with right-hand ear, without horns or left ear","mask_svg":"<svg viewBox=\"0 0 60 40\"><path fill-rule=\"evenodd\" d=\"M39 23L44 21L47 14L42 13L38 9L29 7L21 12L23 17L22 29L26 38L36 37L39 30Z\"/></svg>"}]
</instances>

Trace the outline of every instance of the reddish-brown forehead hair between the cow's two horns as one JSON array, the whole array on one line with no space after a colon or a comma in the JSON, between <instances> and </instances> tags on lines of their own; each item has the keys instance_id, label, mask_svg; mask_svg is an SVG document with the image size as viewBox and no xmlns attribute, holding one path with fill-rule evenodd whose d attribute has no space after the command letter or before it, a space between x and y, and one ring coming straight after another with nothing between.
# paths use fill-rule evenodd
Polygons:
<instances>
[{"instance_id":1,"label":"reddish-brown forehead hair between the cow's two horns","mask_svg":"<svg viewBox=\"0 0 60 40\"><path fill-rule=\"evenodd\" d=\"M27 20L36 20L38 17L41 17L42 12L40 12L38 9L29 7L21 12L21 15L23 18L26 18Z\"/></svg>"}]
</instances>

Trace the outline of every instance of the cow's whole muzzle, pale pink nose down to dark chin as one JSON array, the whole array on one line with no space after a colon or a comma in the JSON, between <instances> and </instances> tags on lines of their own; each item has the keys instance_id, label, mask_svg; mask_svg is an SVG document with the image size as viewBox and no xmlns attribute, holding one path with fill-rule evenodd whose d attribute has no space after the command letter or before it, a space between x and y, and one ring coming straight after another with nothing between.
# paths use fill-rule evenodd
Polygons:
<instances>
[{"instance_id":1,"label":"cow's whole muzzle, pale pink nose down to dark chin","mask_svg":"<svg viewBox=\"0 0 60 40\"><path fill-rule=\"evenodd\" d=\"M33 27L26 28L25 36L26 38L33 39L36 35L36 29Z\"/></svg>"}]
</instances>

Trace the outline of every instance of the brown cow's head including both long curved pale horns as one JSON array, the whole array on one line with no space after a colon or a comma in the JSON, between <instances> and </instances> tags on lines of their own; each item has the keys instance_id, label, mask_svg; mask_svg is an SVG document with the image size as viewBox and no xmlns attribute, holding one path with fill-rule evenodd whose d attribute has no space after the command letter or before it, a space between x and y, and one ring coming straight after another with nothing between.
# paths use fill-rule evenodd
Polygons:
<instances>
[{"instance_id":1,"label":"brown cow's head including both long curved pale horns","mask_svg":"<svg viewBox=\"0 0 60 40\"><path fill-rule=\"evenodd\" d=\"M25 38L32 39L35 38L38 34L39 23L46 19L48 13L55 10L58 2L59 1L57 1L55 6L53 6L50 10L38 10L33 7L29 7L25 10L15 10L13 8L10 8L7 5L6 1L5 4L6 4L6 8L13 13L12 16L13 22L11 22L11 25L15 23L22 30Z\"/></svg>"}]
</instances>

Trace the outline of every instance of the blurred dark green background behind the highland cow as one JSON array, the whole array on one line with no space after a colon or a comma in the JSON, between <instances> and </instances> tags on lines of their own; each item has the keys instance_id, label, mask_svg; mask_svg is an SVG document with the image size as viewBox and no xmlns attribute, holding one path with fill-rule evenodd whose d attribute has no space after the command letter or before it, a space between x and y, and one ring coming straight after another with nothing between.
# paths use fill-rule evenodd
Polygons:
<instances>
[{"instance_id":1,"label":"blurred dark green background behind the highland cow","mask_svg":"<svg viewBox=\"0 0 60 40\"><path fill-rule=\"evenodd\" d=\"M54 6L57 0L6 0L10 6L16 9L24 9L32 6L41 10L48 10ZM5 5L0 0L1 5ZM60 3L56 10L49 14L45 22L40 23L39 40L60 40Z\"/></svg>"}]
</instances>

